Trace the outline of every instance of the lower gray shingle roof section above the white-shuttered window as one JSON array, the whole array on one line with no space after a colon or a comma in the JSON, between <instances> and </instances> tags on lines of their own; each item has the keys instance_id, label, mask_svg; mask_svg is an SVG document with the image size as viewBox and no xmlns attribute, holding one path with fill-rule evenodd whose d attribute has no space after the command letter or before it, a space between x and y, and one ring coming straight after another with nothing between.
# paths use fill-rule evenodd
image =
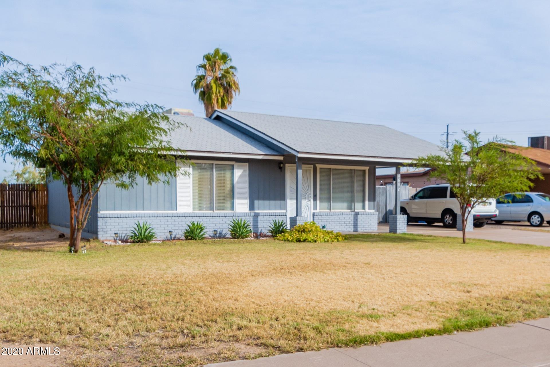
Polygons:
<instances>
[{"instance_id":1,"label":"lower gray shingle roof section above the white-shuttered window","mask_svg":"<svg viewBox=\"0 0 550 367\"><path fill-rule=\"evenodd\" d=\"M167 137L175 149L186 151L223 152L240 154L280 155L270 147L245 135L227 124L205 117L170 115L180 127Z\"/></svg>"}]
</instances>

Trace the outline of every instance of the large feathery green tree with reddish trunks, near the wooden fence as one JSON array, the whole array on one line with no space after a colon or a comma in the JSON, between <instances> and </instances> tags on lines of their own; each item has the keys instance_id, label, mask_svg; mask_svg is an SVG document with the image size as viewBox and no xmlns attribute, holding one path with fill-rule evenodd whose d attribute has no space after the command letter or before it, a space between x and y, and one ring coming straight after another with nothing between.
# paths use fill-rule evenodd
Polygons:
<instances>
[{"instance_id":1,"label":"large feathery green tree with reddish trunks, near the wooden fence","mask_svg":"<svg viewBox=\"0 0 550 367\"><path fill-rule=\"evenodd\" d=\"M78 64L34 68L1 52L0 67L0 154L67 185L75 251L103 183L128 189L138 177L149 184L175 177L166 136L179 125L161 106L113 99L124 76Z\"/></svg>"}]
</instances>

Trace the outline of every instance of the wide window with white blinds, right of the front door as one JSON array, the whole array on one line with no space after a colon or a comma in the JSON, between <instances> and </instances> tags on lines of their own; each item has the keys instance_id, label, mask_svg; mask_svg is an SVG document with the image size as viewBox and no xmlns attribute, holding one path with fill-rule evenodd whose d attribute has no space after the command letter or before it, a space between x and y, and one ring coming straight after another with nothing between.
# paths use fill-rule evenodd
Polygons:
<instances>
[{"instance_id":1,"label":"wide window with white blinds, right of the front door","mask_svg":"<svg viewBox=\"0 0 550 367\"><path fill-rule=\"evenodd\" d=\"M365 169L319 168L318 210L365 210Z\"/></svg>"}]
</instances>

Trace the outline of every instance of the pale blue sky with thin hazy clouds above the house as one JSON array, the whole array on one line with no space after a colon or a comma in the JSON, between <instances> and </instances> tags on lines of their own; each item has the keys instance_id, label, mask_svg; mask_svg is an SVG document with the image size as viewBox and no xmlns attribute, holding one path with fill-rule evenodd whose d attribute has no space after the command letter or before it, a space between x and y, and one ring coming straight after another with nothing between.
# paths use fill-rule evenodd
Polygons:
<instances>
[{"instance_id":1,"label":"pale blue sky with thin hazy clouds above the house","mask_svg":"<svg viewBox=\"0 0 550 367\"><path fill-rule=\"evenodd\" d=\"M203 115L190 84L219 46L239 68L235 111L526 145L550 135L548 19L547 1L18 1L0 50L125 74L118 98Z\"/></svg>"}]
</instances>

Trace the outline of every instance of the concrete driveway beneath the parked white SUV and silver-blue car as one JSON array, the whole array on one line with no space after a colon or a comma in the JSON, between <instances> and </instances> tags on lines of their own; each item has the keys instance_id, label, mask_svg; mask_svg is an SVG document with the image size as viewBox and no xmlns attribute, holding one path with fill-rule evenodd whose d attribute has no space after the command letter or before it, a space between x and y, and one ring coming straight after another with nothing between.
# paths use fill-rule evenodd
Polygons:
<instances>
[{"instance_id":1,"label":"concrete driveway beneath the parked white SUV and silver-blue car","mask_svg":"<svg viewBox=\"0 0 550 367\"><path fill-rule=\"evenodd\" d=\"M389 232L388 224L379 223L378 232ZM436 223L433 226L421 223L409 223L407 232L442 235L445 237L462 237L462 232L456 231L456 229L444 228L441 223ZM483 228L474 228L474 232L468 232L466 238L550 246L550 226L544 224L542 227L531 227L528 223L489 223Z\"/></svg>"}]
</instances>

